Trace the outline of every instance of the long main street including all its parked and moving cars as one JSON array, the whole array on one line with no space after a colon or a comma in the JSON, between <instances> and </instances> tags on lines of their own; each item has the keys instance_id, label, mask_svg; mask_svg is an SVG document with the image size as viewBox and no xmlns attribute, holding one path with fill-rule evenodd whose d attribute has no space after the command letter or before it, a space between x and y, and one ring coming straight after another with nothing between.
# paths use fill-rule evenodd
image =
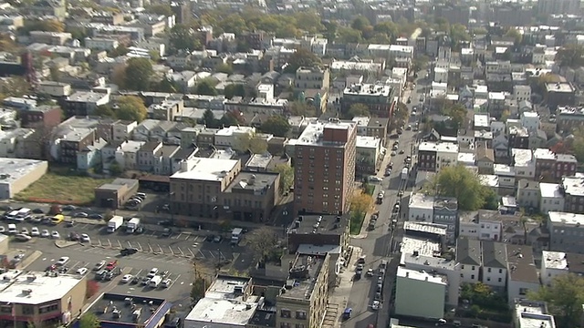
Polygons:
<instances>
[{"instance_id":1,"label":"long main street including all its parked and moving cars","mask_svg":"<svg viewBox=\"0 0 584 328\"><path fill-rule=\"evenodd\" d=\"M350 263L349 270L366 273L355 276L360 279L353 282L347 302L347 308L352 313L342 323L343 327L369 328L371 324L385 327L390 320L395 272L400 261L398 251L403 235L403 218L407 211L406 190L411 188L410 180L415 176L412 169L419 133L416 122L419 118L412 112L413 108L421 108L419 92L422 93L422 80L423 76L419 77L415 87L406 90L401 97L403 103L408 103L412 115L409 115L401 134L388 138L387 148L391 149L391 153L388 154L389 159L383 162L381 181L375 184L373 194L378 199L373 213L374 224L370 224L370 217L365 218L362 231L366 232L351 239L351 245L362 252L359 259Z\"/></svg>"}]
</instances>

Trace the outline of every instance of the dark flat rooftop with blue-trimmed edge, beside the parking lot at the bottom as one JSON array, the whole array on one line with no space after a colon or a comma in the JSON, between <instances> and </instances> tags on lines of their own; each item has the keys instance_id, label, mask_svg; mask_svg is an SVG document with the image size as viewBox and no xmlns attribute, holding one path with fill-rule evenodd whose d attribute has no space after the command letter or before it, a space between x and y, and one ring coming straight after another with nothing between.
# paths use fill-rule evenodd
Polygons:
<instances>
[{"instance_id":1,"label":"dark flat rooftop with blue-trimmed edge, beside the parking lot at the bottom","mask_svg":"<svg viewBox=\"0 0 584 328\"><path fill-rule=\"evenodd\" d=\"M89 313L94 313L102 323L156 323L170 312L172 303L153 297L105 293L93 302Z\"/></svg>"}]
</instances>

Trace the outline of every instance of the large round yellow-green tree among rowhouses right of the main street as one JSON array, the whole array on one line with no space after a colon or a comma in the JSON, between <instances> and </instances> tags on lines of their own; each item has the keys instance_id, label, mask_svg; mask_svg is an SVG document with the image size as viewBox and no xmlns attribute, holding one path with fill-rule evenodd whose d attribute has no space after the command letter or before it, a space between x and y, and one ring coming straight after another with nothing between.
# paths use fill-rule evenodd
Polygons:
<instances>
[{"instance_id":1,"label":"large round yellow-green tree among rowhouses right of the main street","mask_svg":"<svg viewBox=\"0 0 584 328\"><path fill-rule=\"evenodd\" d=\"M442 166L428 191L442 197L453 197L459 210L478 210L485 205L488 187L481 184L478 174L463 165Z\"/></svg>"}]
</instances>

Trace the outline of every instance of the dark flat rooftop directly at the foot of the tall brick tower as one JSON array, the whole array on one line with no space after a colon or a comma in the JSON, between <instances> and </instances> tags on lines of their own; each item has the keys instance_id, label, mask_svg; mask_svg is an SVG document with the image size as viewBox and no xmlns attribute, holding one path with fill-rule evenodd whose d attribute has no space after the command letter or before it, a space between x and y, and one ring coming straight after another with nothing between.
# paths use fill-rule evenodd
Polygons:
<instances>
[{"instance_id":1,"label":"dark flat rooftop directly at the foot of the tall brick tower","mask_svg":"<svg viewBox=\"0 0 584 328\"><path fill-rule=\"evenodd\" d=\"M349 224L348 215L299 215L288 233L320 233L341 235Z\"/></svg>"}]
</instances>

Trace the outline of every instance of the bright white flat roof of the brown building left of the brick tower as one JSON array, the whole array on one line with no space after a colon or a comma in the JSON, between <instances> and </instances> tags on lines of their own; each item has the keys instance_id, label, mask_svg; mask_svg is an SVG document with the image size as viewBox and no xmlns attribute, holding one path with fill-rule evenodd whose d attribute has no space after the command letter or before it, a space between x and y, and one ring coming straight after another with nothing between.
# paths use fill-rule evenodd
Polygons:
<instances>
[{"instance_id":1,"label":"bright white flat roof of the brown building left of the brick tower","mask_svg":"<svg viewBox=\"0 0 584 328\"><path fill-rule=\"evenodd\" d=\"M188 169L172 174L171 179L221 181L225 174L239 165L237 159L190 159Z\"/></svg>"}]
</instances>

